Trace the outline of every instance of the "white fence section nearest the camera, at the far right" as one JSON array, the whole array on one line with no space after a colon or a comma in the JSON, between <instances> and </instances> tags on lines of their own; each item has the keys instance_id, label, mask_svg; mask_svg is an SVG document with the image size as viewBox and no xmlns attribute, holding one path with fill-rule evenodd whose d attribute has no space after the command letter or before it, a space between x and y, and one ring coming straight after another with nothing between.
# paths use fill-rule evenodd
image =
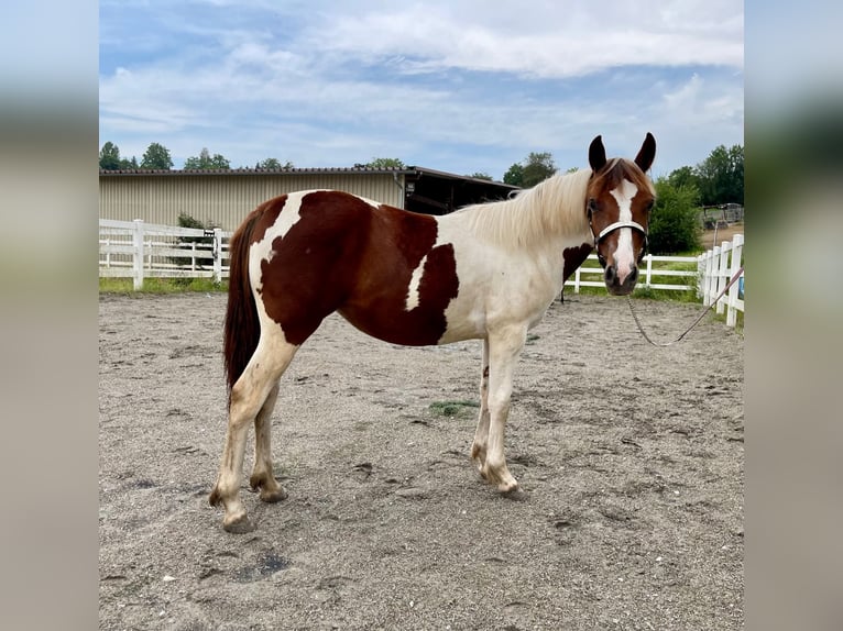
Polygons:
<instances>
[{"instance_id":1,"label":"white fence section nearest the camera, at the far right","mask_svg":"<svg viewBox=\"0 0 843 631\"><path fill-rule=\"evenodd\" d=\"M700 255L700 290L702 303L708 307L725 288L729 281L743 266L744 235L735 234L734 241L724 241L720 245ZM716 312L726 313L726 325L737 323L737 312L746 312L744 308L744 274L729 288L729 291L718 300Z\"/></svg>"}]
</instances>

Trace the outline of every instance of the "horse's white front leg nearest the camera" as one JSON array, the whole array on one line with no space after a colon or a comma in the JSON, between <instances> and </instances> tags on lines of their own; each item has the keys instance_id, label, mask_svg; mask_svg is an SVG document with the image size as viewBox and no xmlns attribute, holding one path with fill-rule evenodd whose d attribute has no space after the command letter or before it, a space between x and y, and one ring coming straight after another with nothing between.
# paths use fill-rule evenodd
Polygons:
<instances>
[{"instance_id":1,"label":"horse's white front leg nearest the camera","mask_svg":"<svg viewBox=\"0 0 843 631\"><path fill-rule=\"evenodd\" d=\"M510 416L513 372L526 337L526 326L511 326L489 336L489 440L480 474L501 492L518 488L518 481L506 466L504 433Z\"/></svg>"}]
</instances>

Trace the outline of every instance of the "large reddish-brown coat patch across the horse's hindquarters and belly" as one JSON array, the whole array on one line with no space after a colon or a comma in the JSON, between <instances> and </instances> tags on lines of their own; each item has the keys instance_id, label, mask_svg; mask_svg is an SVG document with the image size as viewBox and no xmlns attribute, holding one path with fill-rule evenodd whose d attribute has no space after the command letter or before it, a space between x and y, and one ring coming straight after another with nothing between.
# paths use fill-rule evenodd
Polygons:
<instances>
[{"instance_id":1,"label":"large reddish-brown coat patch across the horse's hindquarters and belly","mask_svg":"<svg viewBox=\"0 0 843 631\"><path fill-rule=\"evenodd\" d=\"M375 209L339 191L306 195L298 214L273 241L272 259L261 262L261 297L287 342L300 345L333 311L387 342L438 342L459 280L453 247L434 247L438 224L433 217ZM413 272L425 256L419 305L406 311Z\"/></svg>"}]
</instances>

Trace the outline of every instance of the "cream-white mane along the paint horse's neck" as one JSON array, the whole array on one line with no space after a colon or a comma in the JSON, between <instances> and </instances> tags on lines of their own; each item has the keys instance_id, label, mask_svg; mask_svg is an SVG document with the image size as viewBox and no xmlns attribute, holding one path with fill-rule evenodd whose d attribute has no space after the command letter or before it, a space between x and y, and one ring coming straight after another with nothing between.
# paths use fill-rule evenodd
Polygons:
<instances>
[{"instance_id":1,"label":"cream-white mane along the paint horse's neck","mask_svg":"<svg viewBox=\"0 0 843 631\"><path fill-rule=\"evenodd\" d=\"M588 230L585 191L590 168L554 175L513 199L468 206L466 213L474 233L504 247L518 247L549 235Z\"/></svg>"}]
</instances>

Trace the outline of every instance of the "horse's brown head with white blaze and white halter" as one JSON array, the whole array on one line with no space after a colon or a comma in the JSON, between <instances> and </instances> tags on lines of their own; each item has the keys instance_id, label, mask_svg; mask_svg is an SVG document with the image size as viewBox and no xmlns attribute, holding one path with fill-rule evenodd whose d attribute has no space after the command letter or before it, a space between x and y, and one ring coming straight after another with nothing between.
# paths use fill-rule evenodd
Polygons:
<instances>
[{"instance_id":1,"label":"horse's brown head with white blaze and white halter","mask_svg":"<svg viewBox=\"0 0 843 631\"><path fill-rule=\"evenodd\" d=\"M656 200L646 171L656 156L656 139L647 133L635 160L606 159L600 136L589 147L593 170L585 198L594 248L603 266L606 289L625 296L635 288L638 263L647 248L649 213Z\"/></svg>"}]
</instances>

